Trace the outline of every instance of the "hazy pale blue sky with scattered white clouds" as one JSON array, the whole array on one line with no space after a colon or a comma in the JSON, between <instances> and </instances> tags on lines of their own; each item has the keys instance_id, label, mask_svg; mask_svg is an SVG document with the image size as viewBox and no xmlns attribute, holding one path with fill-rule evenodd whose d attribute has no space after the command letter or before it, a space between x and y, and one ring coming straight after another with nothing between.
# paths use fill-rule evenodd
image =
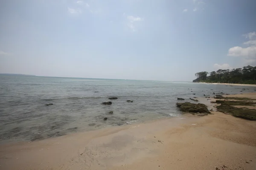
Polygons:
<instances>
[{"instance_id":1,"label":"hazy pale blue sky with scattered white clouds","mask_svg":"<svg viewBox=\"0 0 256 170\"><path fill-rule=\"evenodd\" d=\"M192 81L256 66L256 0L0 0L0 73Z\"/></svg>"}]
</instances>

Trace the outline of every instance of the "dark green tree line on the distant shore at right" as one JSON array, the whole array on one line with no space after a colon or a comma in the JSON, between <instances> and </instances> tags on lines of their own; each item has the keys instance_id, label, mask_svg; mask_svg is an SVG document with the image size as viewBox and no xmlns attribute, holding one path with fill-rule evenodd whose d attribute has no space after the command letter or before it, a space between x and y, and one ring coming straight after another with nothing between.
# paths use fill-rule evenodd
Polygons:
<instances>
[{"instance_id":1,"label":"dark green tree line on the distant shore at right","mask_svg":"<svg viewBox=\"0 0 256 170\"><path fill-rule=\"evenodd\" d=\"M207 76L209 74L209 76ZM201 71L195 74L193 82L256 84L256 67L247 65L232 70Z\"/></svg>"}]
</instances>

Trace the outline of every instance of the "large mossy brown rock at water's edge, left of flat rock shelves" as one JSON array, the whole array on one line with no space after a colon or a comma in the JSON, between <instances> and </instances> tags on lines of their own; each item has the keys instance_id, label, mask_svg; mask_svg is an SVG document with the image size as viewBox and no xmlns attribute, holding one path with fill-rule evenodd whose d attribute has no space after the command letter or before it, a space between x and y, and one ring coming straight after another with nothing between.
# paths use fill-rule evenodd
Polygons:
<instances>
[{"instance_id":1,"label":"large mossy brown rock at water's edge, left of flat rock shelves","mask_svg":"<svg viewBox=\"0 0 256 170\"><path fill-rule=\"evenodd\" d=\"M196 113L211 113L208 109L207 109L207 105L198 103L198 104L194 104L194 103L189 103L189 102L185 102L185 103L176 103L177 107L180 108L180 111L183 112L189 112L192 114L196 114Z\"/></svg>"}]
</instances>

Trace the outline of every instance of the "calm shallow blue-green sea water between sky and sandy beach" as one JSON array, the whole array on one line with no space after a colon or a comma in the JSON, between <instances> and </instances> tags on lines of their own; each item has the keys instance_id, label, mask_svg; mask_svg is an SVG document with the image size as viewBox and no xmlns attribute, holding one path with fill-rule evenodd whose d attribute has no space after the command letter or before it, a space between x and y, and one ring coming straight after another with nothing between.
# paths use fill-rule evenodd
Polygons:
<instances>
[{"instance_id":1,"label":"calm shallow blue-green sea water between sky and sandy beach","mask_svg":"<svg viewBox=\"0 0 256 170\"><path fill-rule=\"evenodd\" d=\"M177 97L192 102L189 97L214 96L213 92L239 94L254 92L254 87L0 75L0 142L41 140L181 116L175 105ZM109 100L111 96L118 99ZM101 104L108 101L112 105ZM48 103L53 105L46 106Z\"/></svg>"}]
</instances>

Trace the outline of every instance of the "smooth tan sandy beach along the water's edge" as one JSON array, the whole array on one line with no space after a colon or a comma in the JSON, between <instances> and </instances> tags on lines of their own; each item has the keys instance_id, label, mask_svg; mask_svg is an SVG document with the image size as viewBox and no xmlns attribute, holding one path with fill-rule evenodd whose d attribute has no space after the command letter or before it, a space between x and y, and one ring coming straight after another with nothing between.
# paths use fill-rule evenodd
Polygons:
<instances>
[{"instance_id":1,"label":"smooth tan sandy beach along the water's edge","mask_svg":"<svg viewBox=\"0 0 256 170\"><path fill-rule=\"evenodd\" d=\"M0 169L256 170L256 122L212 113L3 144Z\"/></svg>"}]
</instances>

